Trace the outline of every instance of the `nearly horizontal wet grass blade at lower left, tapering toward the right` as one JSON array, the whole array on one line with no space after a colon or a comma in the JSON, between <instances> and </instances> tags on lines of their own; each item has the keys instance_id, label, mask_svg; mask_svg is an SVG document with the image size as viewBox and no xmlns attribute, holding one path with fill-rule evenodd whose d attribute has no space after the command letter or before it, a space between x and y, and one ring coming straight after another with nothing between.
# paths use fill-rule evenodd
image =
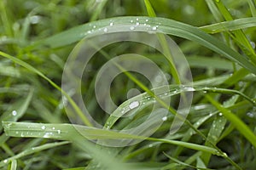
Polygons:
<instances>
[{"instance_id":1,"label":"nearly horizontal wet grass blade at lower left, tapering toward the right","mask_svg":"<svg viewBox=\"0 0 256 170\"><path fill-rule=\"evenodd\" d=\"M47 138L73 141L73 139L81 138L80 135L82 134L86 139L146 139L143 136L63 123L49 124L30 122L3 122L3 127L7 135L23 138ZM181 145L192 150L200 150L203 152L210 152L213 155L223 156L218 152L218 150L200 144L192 144L168 139L148 138L148 140L166 144Z\"/></svg>"}]
</instances>

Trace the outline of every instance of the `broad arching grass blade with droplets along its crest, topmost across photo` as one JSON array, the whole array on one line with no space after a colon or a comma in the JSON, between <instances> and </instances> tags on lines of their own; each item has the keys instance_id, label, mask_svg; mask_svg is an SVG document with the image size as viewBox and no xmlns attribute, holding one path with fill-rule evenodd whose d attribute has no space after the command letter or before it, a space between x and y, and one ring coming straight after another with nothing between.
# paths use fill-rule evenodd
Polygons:
<instances>
[{"instance_id":1,"label":"broad arching grass blade with droplets along its crest, topmost across photo","mask_svg":"<svg viewBox=\"0 0 256 170\"><path fill-rule=\"evenodd\" d=\"M136 27L136 25L131 23L131 20L139 20L141 26ZM113 24L114 32L117 32L117 31L148 32L147 28L153 28L157 26L157 29L156 30L154 29L156 33L157 32L165 33L165 34L169 34L177 37L183 37L185 39L188 39L194 42L198 42L202 46L210 48L218 54L224 55L224 57L239 63L242 67L246 68L248 71L251 71L253 74L256 74L256 66L253 65L253 63L248 61L241 54L236 53L233 49L225 45L223 42L218 41L218 39L216 39L215 37L208 35L206 32L201 31L199 28L195 26L189 26L187 24L178 22L176 20L169 20L169 19L158 18L158 17L154 17L154 18L117 17L117 18L111 18L107 20L98 20L95 22L91 22L90 24L74 27L73 29L70 29L68 31L63 31L60 34L57 34L53 37L48 37L44 40L35 42L32 46L37 47L40 45L45 45L45 46L49 46L50 48L60 48L68 44L71 44L73 42L78 42L84 37L97 36L97 35L102 35L106 33L103 31L103 29L105 27L108 27L109 23L114 23ZM146 26L143 26L144 24ZM96 26L98 28L97 31L92 31L93 26ZM135 26L136 29L130 30L131 26ZM111 33L111 31L109 31L109 33Z\"/></svg>"}]
</instances>

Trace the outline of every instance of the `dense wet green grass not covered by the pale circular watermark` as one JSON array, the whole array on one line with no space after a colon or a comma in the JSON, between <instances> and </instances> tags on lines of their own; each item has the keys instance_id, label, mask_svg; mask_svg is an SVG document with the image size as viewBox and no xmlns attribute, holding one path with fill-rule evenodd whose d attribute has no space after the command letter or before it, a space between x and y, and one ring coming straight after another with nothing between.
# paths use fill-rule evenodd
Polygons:
<instances>
[{"instance_id":1,"label":"dense wet green grass not covered by the pale circular watermark","mask_svg":"<svg viewBox=\"0 0 256 170\"><path fill-rule=\"evenodd\" d=\"M255 4L253 0L0 1L0 169L253 169ZM133 42L117 42L95 54L82 79L90 81L81 82L81 93L88 111L103 126L97 128L70 92L61 89L64 65L73 48L86 42L84 37L104 35L110 23L113 30L108 31L129 31L134 26L131 20L155 28L150 33L156 33L167 57ZM148 32L147 27L140 31ZM180 70L174 67L163 34L182 49L193 84L180 85ZM119 107L109 116L96 101L96 74L112 57L128 53L152 59L172 75L170 86L152 89L142 75L117 65L125 72L111 86ZM131 88L141 94L127 99ZM189 115L177 133L170 134L179 99L188 91L193 92ZM61 94L73 108L68 116L83 123L72 124ZM166 105L168 99L171 105ZM132 102L143 105L128 111ZM160 109L152 110L155 103ZM148 116L150 111L157 116ZM162 111L169 111L165 122L150 137L144 132L125 133L131 127L155 126ZM125 114L130 117L121 117ZM151 124L143 124L148 117ZM117 139L123 139L120 145L131 139L139 142L102 145L114 145Z\"/></svg>"}]
</instances>

